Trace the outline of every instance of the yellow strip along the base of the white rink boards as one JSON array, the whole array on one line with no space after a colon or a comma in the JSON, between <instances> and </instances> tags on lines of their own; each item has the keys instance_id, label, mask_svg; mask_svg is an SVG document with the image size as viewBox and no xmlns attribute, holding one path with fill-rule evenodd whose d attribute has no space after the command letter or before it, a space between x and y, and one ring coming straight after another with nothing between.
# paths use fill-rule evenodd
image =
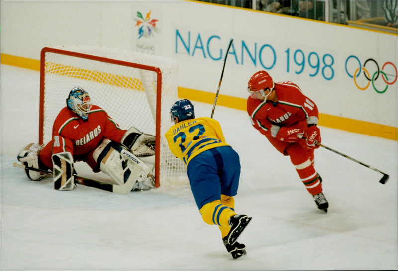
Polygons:
<instances>
[{"instance_id":1,"label":"yellow strip along the base of the white rink boards","mask_svg":"<svg viewBox=\"0 0 398 271\"><path fill-rule=\"evenodd\" d=\"M1 64L40 71L40 60L1 54ZM178 97L202 103L214 104L215 93L178 87ZM246 99L219 94L218 106L225 106L246 111ZM211 112L209 112L210 115ZM319 125L387 139L398 139L398 128L382 124L354 120L329 114L319 114Z\"/></svg>"}]
</instances>

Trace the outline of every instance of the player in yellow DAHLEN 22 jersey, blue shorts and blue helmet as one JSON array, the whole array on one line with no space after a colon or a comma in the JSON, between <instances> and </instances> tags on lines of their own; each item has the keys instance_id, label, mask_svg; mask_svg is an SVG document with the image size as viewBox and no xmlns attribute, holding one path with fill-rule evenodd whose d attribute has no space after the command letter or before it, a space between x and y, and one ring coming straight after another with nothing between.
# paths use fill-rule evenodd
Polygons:
<instances>
[{"instance_id":1,"label":"player in yellow DAHLEN 22 jersey, blue shorts and blue helmet","mask_svg":"<svg viewBox=\"0 0 398 271\"><path fill-rule=\"evenodd\" d=\"M240 176L239 155L225 142L218 121L195 118L194 106L179 100L170 110L175 123L165 134L171 152L187 165L191 191L202 219L218 225L222 241L234 259L246 254L236 242L251 217L234 211Z\"/></svg>"}]
</instances>

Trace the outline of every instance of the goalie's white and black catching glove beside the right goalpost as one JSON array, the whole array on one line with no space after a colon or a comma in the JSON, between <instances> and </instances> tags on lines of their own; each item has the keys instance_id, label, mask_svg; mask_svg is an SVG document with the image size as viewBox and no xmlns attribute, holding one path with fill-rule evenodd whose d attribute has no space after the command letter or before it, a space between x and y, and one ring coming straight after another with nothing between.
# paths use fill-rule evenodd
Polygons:
<instances>
[{"instance_id":1,"label":"goalie's white and black catching glove beside the right goalpost","mask_svg":"<svg viewBox=\"0 0 398 271\"><path fill-rule=\"evenodd\" d=\"M142 133L134 126L127 130L120 143L137 157L155 155L155 136Z\"/></svg>"}]
</instances>

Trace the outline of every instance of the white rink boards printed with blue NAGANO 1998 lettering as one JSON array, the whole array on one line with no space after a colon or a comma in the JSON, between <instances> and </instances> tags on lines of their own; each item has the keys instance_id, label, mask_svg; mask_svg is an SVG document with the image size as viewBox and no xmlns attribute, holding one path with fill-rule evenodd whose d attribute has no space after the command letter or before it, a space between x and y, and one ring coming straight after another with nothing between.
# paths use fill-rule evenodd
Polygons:
<instances>
[{"instance_id":1,"label":"white rink boards printed with blue NAGANO 1998 lettering","mask_svg":"<svg viewBox=\"0 0 398 271\"><path fill-rule=\"evenodd\" d=\"M157 20L145 24L150 35L139 38L137 12ZM297 83L321 113L397 127L396 34L193 1L1 1L2 54L40 59L41 48L65 44L145 51L178 61L179 86L207 92L217 90L231 38L221 94L246 98L250 76L266 69ZM367 60L369 78L378 65L389 84L382 73L366 79Z\"/></svg>"}]
</instances>

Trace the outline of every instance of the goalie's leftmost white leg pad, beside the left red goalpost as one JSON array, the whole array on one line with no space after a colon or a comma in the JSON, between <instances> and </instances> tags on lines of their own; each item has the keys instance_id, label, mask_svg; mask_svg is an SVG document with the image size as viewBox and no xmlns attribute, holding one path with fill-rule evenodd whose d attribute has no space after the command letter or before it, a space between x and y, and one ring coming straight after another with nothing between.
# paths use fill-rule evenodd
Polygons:
<instances>
[{"instance_id":1,"label":"goalie's leftmost white leg pad, beside the left red goalpost","mask_svg":"<svg viewBox=\"0 0 398 271\"><path fill-rule=\"evenodd\" d=\"M39 152L43 147L37 143L30 143L22 149L18 154L18 161L25 166L34 167L39 169ZM41 180L43 174L37 171L25 169L25 173L32 181Z\"/></svg>"}]
</instances>

